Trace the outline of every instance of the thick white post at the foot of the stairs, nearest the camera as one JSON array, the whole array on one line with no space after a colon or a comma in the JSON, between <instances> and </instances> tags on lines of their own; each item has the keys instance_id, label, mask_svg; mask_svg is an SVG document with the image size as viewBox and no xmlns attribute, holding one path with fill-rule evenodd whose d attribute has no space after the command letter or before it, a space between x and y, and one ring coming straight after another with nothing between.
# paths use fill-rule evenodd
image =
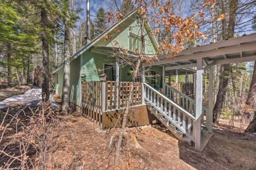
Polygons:
<instances>
[{"instance_id":1,"label":"thick white post at the foot of the stairs, nearest the camera","mask_svg":"<svg viewBox=\"0 0 256 170\"><path fill-rule=\"evenodd\" d=\"M201 146L201 114L202 114L202 58L197 59L196 70L196 121L194 121L195 148L200 151Z\"/></svg>"}]
</instances>

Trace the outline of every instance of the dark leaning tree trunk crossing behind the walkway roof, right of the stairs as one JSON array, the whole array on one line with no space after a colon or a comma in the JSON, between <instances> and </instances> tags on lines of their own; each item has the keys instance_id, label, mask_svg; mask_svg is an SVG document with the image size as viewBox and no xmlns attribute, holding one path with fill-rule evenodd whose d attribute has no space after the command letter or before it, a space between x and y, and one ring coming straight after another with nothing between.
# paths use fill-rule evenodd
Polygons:
<instances>
[{"instance_id":1,"label":"dark leaning tree trunk crossing behind the walkway roof, right of the stairs","mask_svg":"<svg viewBox=\"0 0 256 170\"><path fill-rule=\"evenodd\" d=\"M222 2L222 1L221 1ZM222 3L222 10L224 10L224 4ZM222 21L222 39L233 38L235 30L235 16L238 8L238 0L229 1L229 25L227 27L227 33L225 32L225 23ZM224 11L222 11L224 12ZM230 76L230 64L224 64L222 67L221 77L219 80L219 89L216 98L216 103L213 108L213 122L219 123L219 117L221 116L221 110L223 108L224 101L226 101L227 86L229 85Z\"/></svg>"}]
</instances>

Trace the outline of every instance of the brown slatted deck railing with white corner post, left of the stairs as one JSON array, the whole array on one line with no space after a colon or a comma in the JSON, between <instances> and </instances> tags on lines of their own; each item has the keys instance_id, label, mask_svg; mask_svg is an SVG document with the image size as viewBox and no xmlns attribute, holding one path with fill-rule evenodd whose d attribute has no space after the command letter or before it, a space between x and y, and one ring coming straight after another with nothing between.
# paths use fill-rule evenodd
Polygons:
<instances>
[{"instance_id":1,"label":"brown slatted deck railing with white corner post, left of the stairs","mask_svg":"<svg viewBox=\"0 0 256 170\"><path fill-rule=\"evenodd\" d=\"M132 82L82 82L82 107L85 117L102 123L102 113L124 109L129 99ZM142 104L142 84L135 83L130 106Z\"/></svg>"}]
</instances>

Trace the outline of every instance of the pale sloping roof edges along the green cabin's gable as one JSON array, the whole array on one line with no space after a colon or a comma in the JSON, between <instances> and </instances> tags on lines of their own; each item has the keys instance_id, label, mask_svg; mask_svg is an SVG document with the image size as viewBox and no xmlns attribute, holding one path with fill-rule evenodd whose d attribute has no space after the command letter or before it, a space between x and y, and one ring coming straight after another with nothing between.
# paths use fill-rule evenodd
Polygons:
<instances>
[{"instance_id":1,"label":"pale sloping roof edges along the green cabin's gable","mask_svg":"<svg viewBox=\"0 0 256 170\"><path fill-rule=\"evenodd\" d=\"M94 38L91 42L89 42L87 45L85 45L84 47L82 47L82 49L80 49L78 52L74 53L73 56L71 56L71 61L73 61L74 59L76 59L77 57L79 57L80 55L82 55L82 53L84 53L86 50L90 49L90 47L94 46L94 44L96 44L96 42L98 42L99 40L101 40L102 38L104 38L104 36L107 33L112 32L118 25L122 24L124 21L126 21L126 19L130 18L130 16L132 16L134 13L137 12L137 9L132 10L130 13L128 13L126 16L124 16L124 19L120 22L116 22L115 24L113 24L111 27L109 27L107 30L105 30L104 32L102 32L100 35L96 36L96 38ZM145 29L149 32L152 32L152 27L148 22L145 22ZM155 36L150 33L149 34L149 38L151 38L151 41L153 41L153 45L155 47L155 49L158 49L158 42L157 39L155 38ZM57 69L55 69L52 73L57 72L59 69L61 69L63 67L63 63L57 67Z\"/></svg>"}]
</instances>

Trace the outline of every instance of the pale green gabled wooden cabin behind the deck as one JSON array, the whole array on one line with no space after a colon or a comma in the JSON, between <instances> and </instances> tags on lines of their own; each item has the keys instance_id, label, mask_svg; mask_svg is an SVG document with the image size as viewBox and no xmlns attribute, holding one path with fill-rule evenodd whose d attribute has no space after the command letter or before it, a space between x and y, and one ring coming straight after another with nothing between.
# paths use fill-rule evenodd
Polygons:
<instances>
[{"instance_id":1,"label":"pale green gabled wooden cabin behind the deck","mask_svg":"<svg viewBox=\"0 0 256 170\"><path fill-rule=\"evenodd\" d=\"M118 42L121 49L133 51L141 49L140 39L140 17L137 10L130 12L121 22L105 30L101 35L94 38L90 43L80 49L72 56L70 66L70 101L80 106L80 82L99 81L102 74L107 75L107 81L116 79L116 58L112 56L114 44ZM145 49L148 55L155 55L158 49L158 42L152 33L149 22L144 22ZM115 29L119 29L116 33ZM106 35L112 35L111 40L105 40ZM55 94L62 94L63 87L63 64L59 66L53 74L55 75ZM99 71L101 70L101 71ZM148 74L157 75L148 79L155 89L162 88L162 66L151 67ZM132 67L125 66L119 68L119 81L132 81ZM84 75L85 78L81 78Z\"/></svg>"}]
</instances>

